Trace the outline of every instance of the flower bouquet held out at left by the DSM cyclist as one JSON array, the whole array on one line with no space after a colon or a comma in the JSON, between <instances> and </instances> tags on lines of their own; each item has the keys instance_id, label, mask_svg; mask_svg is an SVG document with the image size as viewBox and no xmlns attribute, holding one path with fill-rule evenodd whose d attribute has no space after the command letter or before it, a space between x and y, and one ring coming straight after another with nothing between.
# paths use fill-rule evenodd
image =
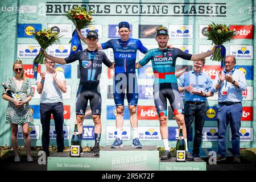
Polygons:
<instances>
[{"instance_id":1,"label":"flower bouquet held out at left by the DSM cyclist","mask_svg":"<svg viewBox=\"0 0 256 182\"><path fill-rule=\"evenodd\" d=\"M33 34L35 39L38 41L38 44L41 48L46 49L52 44L60 44L60 36L58 32L52 31L51 28L47 30L39 30L34 32ZM44 52L39 51L38 56L35 57L33 61L33 69L34 69L34 78L36 78L38 73L38 64L43 64Z\"/></svg>"}]
</instances>

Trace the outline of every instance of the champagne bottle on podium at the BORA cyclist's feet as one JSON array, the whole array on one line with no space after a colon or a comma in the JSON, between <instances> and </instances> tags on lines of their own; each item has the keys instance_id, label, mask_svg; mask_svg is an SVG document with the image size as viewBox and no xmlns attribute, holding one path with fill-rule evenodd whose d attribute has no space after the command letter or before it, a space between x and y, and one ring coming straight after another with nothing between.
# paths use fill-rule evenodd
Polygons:
<instances>
[{"instance_id":1,"label":"champagne bottle on podium at the BORA cyclist's feet","mask_svg":"<svg viewBox=\"0 0 256 182\"><path fill-rule=\"evenodd\" d=\"M176 144L176 162L186 162L186 144L182 133L182 126L180 126L179 138Z\"/></svg>"}]
</instances>

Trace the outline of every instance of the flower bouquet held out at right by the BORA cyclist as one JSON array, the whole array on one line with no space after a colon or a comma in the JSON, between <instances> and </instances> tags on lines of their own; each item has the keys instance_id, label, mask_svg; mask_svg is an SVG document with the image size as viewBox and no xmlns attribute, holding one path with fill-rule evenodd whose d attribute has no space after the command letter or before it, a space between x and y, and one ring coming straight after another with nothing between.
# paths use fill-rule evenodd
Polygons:
<instances>
[{"instance_id":1,"label":"flower bouquet held out at right by the BORA cyclist","mask_svg":"<svg viewBox=\"0 0 256 182\"><path fill-rule=\"evenodd\" d=\"M225 42L230 42L234 37L234 31L230 30L226 24L209 24L205 36L208 40L212 40L217 45L213 55L210 57L213 61L221 61L221 68L224 67L226 57L226 48L222 45Z\"/></svg>"}]
</instances>

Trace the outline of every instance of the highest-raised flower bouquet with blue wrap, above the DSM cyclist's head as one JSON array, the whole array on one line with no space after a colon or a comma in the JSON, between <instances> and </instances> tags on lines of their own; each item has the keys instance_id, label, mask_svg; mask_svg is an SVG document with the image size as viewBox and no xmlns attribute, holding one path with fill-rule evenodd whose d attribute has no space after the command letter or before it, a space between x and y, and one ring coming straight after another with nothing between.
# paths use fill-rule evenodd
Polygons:
<instances>
[{"instance_id":1,"label":"highest-raised flower bouquet with blue wrap, above the DSM cyclist's head","mask_svg":"<svg viewBox=\"0 0 256 182\"><path fill-rule=\"evenodd\" d=\"M86 11L82 6L76 6L75 9L71 9L67 11L67 13L65 13L64 15L67 16L67 18L75 24L75 27L78 30L81 30L82 28L85 28L89 24L92 24L92 13L94 12ZM69 56L81 50L82 50L82 44L80 42L80 38L77 35L77 31L74 30L72 34L72 39L71 39L71 51Z\"/></svg>"}]
</instances>

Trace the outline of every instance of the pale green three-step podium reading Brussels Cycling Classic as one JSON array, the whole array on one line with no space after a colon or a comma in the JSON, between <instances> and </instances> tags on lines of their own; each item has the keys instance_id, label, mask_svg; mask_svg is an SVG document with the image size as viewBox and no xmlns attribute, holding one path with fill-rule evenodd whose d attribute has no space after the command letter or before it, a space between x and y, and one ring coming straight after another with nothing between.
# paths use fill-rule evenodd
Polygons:
<instances>
[{"instance_id":1,"label":"pale green three-step podium reading Brussels Cycling Classic","mask_svg":"<svg viewBox=\"0 0 256 182\"><path fill-rule=\"evenodd\" d=\"M200 158L193 162L176 162L175 158L160 160L156 146L133 148L101 148L100 157L84 152L71 158L69 152L57 152L48 157L48 171L206 171L207 164Z\"/></svg>"}]
</instances>

